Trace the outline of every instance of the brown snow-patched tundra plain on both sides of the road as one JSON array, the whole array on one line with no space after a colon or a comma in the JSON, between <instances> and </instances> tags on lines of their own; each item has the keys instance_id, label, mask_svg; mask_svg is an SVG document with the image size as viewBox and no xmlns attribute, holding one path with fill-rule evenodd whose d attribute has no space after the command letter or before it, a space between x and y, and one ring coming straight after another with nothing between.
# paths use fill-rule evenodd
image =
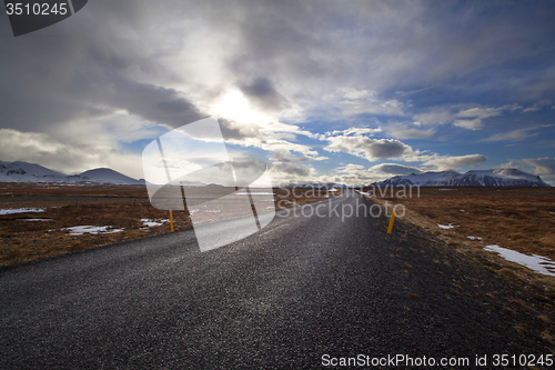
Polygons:
<instances>
[{"instance_id":1,"label":"brown snow-patched tundra plain on both sides of the road","mask_svg":"<svg viewBox=\"0 0 555 370\"><path fill-rule=\"evenodd\" d=\"M206 200L224 191L203 189ZM555 188L421 187L412 194L397 188L363 190L371 201L387 204L390 212L394 204L403 206L395 222L424 228L509 280L533 281L555 292L555 277L484 250L494 244L555 261ZM276 208L340 193L310 188L273 191ZM196 203L202 202L195 193ZM174 211L173 219L175 230L192 227L189 210ZM0 266L165 232L170 232L169 212L150 204L143 186L0 183Z\"/></svg>"}]
</instances>

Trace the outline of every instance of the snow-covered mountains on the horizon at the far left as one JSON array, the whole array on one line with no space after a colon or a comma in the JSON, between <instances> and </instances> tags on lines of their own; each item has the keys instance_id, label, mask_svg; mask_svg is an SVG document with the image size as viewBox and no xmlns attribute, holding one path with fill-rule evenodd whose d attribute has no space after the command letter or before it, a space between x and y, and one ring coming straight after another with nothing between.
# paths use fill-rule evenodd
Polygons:
<instances>
[{"instance_id":1,"label":"snow-covered mountains on the horizon at the far left","mask_svg":"<svg viewBox=\"0 0 555 370\"><path fill-rule=\"evenodd\" d=\"M0 161L0 182L144 183L143 180L132 179L109 168L98 168L79 174L68 176L61 172L52 171L40 164L21 161Z\"/></svg>"}]
</instances>

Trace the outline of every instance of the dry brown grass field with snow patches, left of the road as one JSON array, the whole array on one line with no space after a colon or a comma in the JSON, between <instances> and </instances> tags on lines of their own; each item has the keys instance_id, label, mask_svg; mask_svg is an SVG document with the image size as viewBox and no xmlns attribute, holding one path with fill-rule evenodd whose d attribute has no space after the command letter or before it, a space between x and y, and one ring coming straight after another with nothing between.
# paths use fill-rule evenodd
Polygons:
<instances>
[{"instance_id":1,"label":"dry brown grass field with snow patches, left of the road","mask_svg":"<svg viewBox=\"0 0 555 370\"><path fill-rule=\"evenodd\" d=\"M203 189L206 199L222 191L218 187ZM278 188L274 193L276 208L334 194L313 189L296 189L293 193L291 189ZM0 266L170 232L169 212L150 204L143 186L0 183L0 210L14 209L31 210L0 214ZM148 226L143 219L158 224ZM173 220L174 230L192 227L188 210L174 211ZM80 226L109 228L82 234L68 230Z\"/></svg>"}]
</instances>

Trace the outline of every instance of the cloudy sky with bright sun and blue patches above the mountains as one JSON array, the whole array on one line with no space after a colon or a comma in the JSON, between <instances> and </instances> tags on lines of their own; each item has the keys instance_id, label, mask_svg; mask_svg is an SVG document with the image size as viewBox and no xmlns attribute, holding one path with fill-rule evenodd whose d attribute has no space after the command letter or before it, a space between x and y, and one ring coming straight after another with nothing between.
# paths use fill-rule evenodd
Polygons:
<instances>
[{"instance_id":1,"label":"cloudy sky with bright sun and blue patches above the mountains","mask_svg":"<svg viewBox=\"0 0 555 370\"><path fill-rule=\"evenodd\" d=\"M278 183L555 184L553 19L553 1L93 0L14 38L4 14L0 160L142 178L150 141L213 116Z\"/></svg>"}]
</instances>

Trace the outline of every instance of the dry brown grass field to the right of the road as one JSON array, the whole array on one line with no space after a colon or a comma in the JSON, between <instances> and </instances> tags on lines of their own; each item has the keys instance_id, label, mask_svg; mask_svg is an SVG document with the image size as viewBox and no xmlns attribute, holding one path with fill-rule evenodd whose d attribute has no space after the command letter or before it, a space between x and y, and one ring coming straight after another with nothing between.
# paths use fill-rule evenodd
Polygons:
<instances>
[{"instance_id":1,"label":"dry brown grass field to the right of the road","mask_svg":"<svg viewBox=\"0 0 555 370\"><path fill-rule=\"evenodd\" d=\"M555 188L413 188L412 197L365 189L382 204L403 204L405 221L428 230L447 246L475 257L487 268L517 282L535 282L555 292L555 278L485 251L496 244L527 256L555 261ZM400 193L402 196L402 193ZM442 229L442 226L455 226ZM470 239L468 237L480 237Z\"/></svg>"}]
</instances>

